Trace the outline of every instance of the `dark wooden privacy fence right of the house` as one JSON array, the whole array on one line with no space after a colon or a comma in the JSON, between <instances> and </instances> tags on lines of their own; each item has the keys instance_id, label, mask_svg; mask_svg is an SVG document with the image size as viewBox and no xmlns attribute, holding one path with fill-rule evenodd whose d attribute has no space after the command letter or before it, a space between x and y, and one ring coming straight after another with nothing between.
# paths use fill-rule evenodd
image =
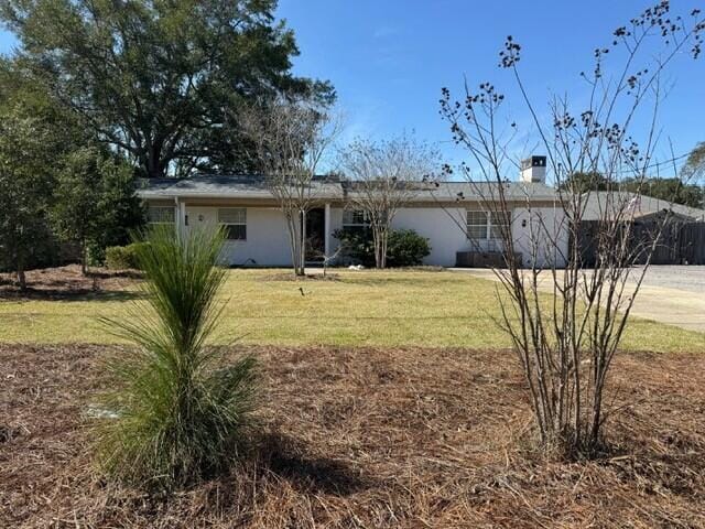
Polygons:
<instances>
[{"instance_id":1,"label":"dark wooden privacy fence right of the house","mask_svg":"<svg viewBox=\"0 0 705 529\"><path fill-rule=\"evenodd\" d=\"M653 240L659 230L658 222L638 222L631 227L630 245L632 249L643 248ZM599 220L581 223L579 248L583 266L594 267L596 262ZM574 244L572 240L571 244ZM638 259L643 262L646 256ZM657 244L652 264L705 264L705 223L671 222L663 227Z\"/></svg>"}]
</instances>

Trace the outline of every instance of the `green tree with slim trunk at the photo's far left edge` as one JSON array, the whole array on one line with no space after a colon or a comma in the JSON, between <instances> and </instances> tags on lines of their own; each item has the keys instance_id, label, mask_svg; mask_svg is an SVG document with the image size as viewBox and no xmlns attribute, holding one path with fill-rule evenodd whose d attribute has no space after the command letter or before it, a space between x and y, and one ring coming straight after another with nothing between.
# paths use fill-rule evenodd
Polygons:
<instances>
[{"instance_id":1,"label":"green tree with slim trunk at the photo's far left edge","mask_svg":"<svg viewBox=\"0 0 705 529\"><path fill-rule=\"evenodd\" d=\"M24 272L46 248L46 214L52 195L50 143L42 123L6 111L0 115L0 258L26 288Z\"/></svg>"}]
</instances>

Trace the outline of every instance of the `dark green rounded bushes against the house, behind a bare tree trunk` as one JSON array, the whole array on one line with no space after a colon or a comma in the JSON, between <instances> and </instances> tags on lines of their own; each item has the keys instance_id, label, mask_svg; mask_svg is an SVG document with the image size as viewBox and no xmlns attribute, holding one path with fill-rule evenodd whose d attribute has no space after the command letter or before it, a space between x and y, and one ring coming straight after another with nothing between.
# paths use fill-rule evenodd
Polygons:
<instances>
[{"instance_id":1,"label":"dark green rounded bushes against the house, behind a bare tree trunk","mask_svg":"<svg viewBox=\"0 0 705 529\"><path fill-rule=\"evenodd\" d=\"M344 255L366 267L375 266L375 241L369 229L338 229L333 236L344 245ZM389 267L415 267L431 253L429 239L413 229L393 229L387 241Z\"/></svg>"}]
</instances>

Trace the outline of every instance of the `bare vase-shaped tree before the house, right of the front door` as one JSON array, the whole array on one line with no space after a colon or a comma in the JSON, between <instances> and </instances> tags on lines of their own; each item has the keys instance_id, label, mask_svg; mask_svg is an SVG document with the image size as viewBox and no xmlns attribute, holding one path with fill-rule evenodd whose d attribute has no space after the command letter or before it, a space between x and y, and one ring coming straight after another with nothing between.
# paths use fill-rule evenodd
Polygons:
<instances>
[{"instance_id":1,"label":"bare vase-shaped tree before the house, right of the front door","mask_svg":"<svg viewBox=\"0 0 705 529\"><path fill-rule=\"evenodd\" d=\"M339 160L348 179L347 206L364 212L372 230L376 266L384 268L392 220L434 171L438 153L402 136L380 142L358 139L341 151Z\"/></svg>"}]
</instances>

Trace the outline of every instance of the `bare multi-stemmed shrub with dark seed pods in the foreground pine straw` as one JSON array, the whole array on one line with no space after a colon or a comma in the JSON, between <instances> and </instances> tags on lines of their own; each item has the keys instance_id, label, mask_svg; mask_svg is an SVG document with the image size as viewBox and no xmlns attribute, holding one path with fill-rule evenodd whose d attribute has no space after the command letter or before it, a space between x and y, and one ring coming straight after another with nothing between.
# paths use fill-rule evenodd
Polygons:
<instances>
[{"instance_id":1,"label":"bare multi-stemmed shrub with dark seed pods in the foreground pine straw","mask_svg":"<svg viewBox=\"0 0 705 529\"><path fill-rule=\"evenodd\" d=\"M587 105L576 110L567 96L554 97L549 123L528 95L521 46L507 39L500 67L516 83L531 117L529 136L545 151L557 190L555 202L544 207L531 199L536 185L530 179L507 182L519 168L512 155L519 128L506 114L505 96L490 83L477 90L466 84L457 101L443 89L441 114L470 155L462 172L477 182L482 208L500 219L496 229L506 268L495 270L503 287L499 323L523 368L546 450L592 453L603 442L609 370L670 217L666 208L644 233L634 222L641 190L626 193L621 183L629 180L633 191L634 182L664 171L654 158L662 76L682 52L697 57L704 31L698 10L674 17L665 1L646 10L618 28L611 44L595 51L594 69L581 74ZM671 170L670 176L677 173ZM585 191L573 177L578 173L599 174L607 191ZM592 237L585 237L588 210L597 212ZM467 229L463 219L458 224Z\"/></svg>"}]
</instances>

